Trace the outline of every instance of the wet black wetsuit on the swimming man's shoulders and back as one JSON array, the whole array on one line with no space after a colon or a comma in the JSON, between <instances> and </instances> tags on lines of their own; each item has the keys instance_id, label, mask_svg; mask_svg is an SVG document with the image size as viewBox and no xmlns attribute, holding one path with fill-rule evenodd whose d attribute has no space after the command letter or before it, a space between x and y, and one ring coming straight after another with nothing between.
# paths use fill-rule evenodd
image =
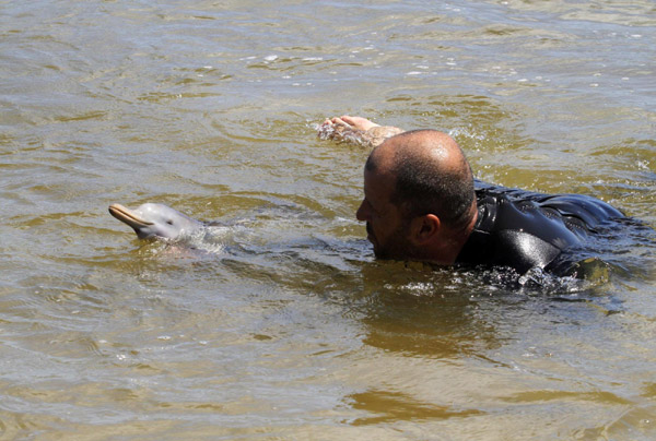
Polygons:
<instances>
[{"instance_id":1,"label":"wet black wetsuit on the swimming man's shoulders and back","mask_svg":"<svg viewBox=\"0 0 656 441\"><path fill-rule=\"evenodd\" d=\"M624 215L598 199L543 194L476 182L478 221L456 262L565 273L557 258L584 243L596 228ZM574 263L574 262L571 262Z\"/></svg>"}]
</instances>

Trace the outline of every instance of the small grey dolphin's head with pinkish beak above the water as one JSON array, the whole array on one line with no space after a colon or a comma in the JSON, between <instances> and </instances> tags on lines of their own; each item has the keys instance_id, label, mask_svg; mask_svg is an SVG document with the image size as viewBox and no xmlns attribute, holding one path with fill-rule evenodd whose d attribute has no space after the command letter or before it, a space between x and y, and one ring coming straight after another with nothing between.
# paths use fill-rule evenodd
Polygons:
<instances>
[{"instance_id":1,"label":"small grey dolphin's head with pinkish beak above the water","mask_svg":"<svg viewBox=\"0 0 656 441\"><path fill-rule=\"evenodd\" d=\"M173 210L164 204L147 203L137 210L120 204L109 205L109 214L128 224L140 239L176 239L191 234L202 226L199 221Z\"/></svg>"}]
</instances>

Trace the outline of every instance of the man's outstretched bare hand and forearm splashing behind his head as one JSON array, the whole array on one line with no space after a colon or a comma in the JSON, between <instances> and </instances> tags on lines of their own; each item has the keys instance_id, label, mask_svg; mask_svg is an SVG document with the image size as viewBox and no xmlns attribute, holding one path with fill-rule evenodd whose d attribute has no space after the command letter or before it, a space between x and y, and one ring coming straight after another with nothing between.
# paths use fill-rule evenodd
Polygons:
<instances>
[{"instance_id":1,"label":"man's outstretched bare hand and forearm splashing behind his head","mask_svg":"<svg viewBox=\"0 0 656 441\"><path fill-rule=\"evenodd\" d=\"M348 142L368 148L376 147L386 139L402 132L403 130L397 127L379 126L366 118L348 115L327 119L318 128L319 138L323 140Z\"/></svg>"}]
</instances>

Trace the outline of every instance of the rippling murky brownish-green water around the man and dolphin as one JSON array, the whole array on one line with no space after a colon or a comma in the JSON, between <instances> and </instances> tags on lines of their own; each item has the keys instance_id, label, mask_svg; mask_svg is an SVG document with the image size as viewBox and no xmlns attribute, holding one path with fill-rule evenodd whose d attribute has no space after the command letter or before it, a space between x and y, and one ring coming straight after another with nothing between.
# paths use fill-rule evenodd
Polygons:
<instances>
[{"instance_id":1,"label":"rippling murky brownish-green water around the man and dolphin","mask_svg":"<svg viewBox=\"0 0 656 441\"><path fill-rule=\"evenodd\" d=\"M2 439L656 434L654 236L586 282L376 262L363 115L656 225L649 1L0 2ZM138 241L110 203L234 234ZM212 245L212 243L210 243Z\"/></svg>"}]
</instances>

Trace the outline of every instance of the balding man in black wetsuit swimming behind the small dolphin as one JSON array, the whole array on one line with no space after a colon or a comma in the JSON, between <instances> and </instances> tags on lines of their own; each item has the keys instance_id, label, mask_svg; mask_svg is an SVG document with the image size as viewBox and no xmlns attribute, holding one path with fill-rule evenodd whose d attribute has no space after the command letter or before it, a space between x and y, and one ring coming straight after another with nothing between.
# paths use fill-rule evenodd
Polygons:
<instances>
[{"instance_id":1,"label":"balding man in black wetsuit swimming behind the small dolphin","mask_svg":"<svg viewBox=\"0 0 656 441\"><path fill-rule=\"evenodd\" d=\"M386 129L349 116L319 128L324 138L374 146L356 217L366 223L377 258L564 274L575 263L559 259L564 251L584 243L604 222L623 217L589 196L475 182L458 144L435 130L389 128L390 136L367 136Z\"/></svg>"}]
</instances>

